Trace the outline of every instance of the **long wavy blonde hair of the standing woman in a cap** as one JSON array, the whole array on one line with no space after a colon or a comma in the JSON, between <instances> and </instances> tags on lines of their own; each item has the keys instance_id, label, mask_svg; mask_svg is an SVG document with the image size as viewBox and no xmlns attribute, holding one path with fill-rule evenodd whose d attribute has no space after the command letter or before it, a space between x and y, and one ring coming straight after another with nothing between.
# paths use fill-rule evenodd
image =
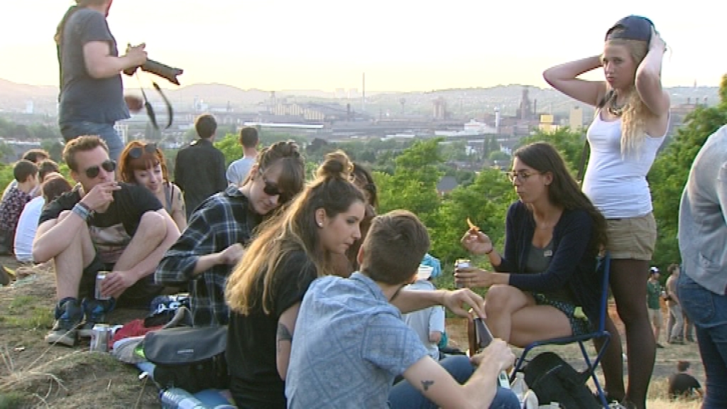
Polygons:
<instances>
[{"instance_id":1,"label":"long wavy blonde hair of the standing woman in a cap","mask_svg":"<svg viewBox=\"0 0 727 409\"><path fill-rule=\"evenodd\" d=\"M629 50L631 57L634 60L636 71L638 65L646 57L648 52L648 43L640 40L630 39L608 39L608 44L621 45ZM634 71L634 77L635 77ZM626 100L627 103L624 106L624 110L621 114L621 155L630 156L637 154L643 146L643 141L646 139L646 118L654 116L648 109L640 95L636 91L635 84L627 91ZM603 98L603 102L600 108L607 107L608 104L616 100L615 90L608 87L608 92Z\"/></svg>"}]
</instances>

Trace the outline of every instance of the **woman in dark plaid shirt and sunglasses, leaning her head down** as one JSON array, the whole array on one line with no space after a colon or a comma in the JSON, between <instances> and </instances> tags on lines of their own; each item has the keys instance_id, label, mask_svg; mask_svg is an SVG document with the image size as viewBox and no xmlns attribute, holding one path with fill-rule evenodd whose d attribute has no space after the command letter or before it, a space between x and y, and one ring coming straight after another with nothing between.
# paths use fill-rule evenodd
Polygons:
<instances>
[{"instance_id":1,"label":"woman in dark plaid shirt and sunglasses, leaning her head down","mask_svg":"<svg viewBox=\"0 0 727 409\"><path fill-rule=\"evenodd\" d=\"M296 143L264 148L242 186L228 186L202 202L187 229L166 252L154 278L189 285L194 325L226 325L225 282L246 253L254 229L289 202L305 183L305 162Z\"/></svg>"}]
</instances>

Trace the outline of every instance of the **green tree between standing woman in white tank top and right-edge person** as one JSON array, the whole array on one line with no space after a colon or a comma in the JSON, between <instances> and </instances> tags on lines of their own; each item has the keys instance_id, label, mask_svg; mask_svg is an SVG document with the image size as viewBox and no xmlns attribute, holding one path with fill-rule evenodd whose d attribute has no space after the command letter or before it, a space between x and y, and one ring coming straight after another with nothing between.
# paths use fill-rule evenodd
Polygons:
<instances>
[{"instance_id":1,"label":"green tree between standing woman in white tank top and right-edge person","mask_svg":"<svg viewBox=\"0 0 727 409\"><path fill-rule=\"evenodd\" d=\"M679 204L684 185L704 140L727 124L727 75L720 86L720 104L699 107L684 119L684 126L659 157L648 174L654 218L659 236L656 239L654 264L662 270L680 260L677 241Z\"/></svg>"}]
</instances>

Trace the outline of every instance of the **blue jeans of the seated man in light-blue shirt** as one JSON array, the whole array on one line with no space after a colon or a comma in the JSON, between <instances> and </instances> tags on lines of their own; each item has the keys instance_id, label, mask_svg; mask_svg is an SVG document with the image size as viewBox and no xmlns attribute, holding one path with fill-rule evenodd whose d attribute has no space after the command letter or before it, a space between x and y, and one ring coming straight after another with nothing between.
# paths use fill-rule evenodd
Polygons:
<instances>
[{"instance_id":1,"label":"blue jeans of the seated man in light-blue shirt","mask_svg":"<svg viewBox=\"0 0 727 409\"><path fill-rule=\"evenodd\" d=\"M455 355L446 357L439 361L444 369L459 384L464 384L467 379L472 376L474 368L470 363L470 358L465 355ZM389 392L389 407L391 409L436 409L438 406L428 400L409 381L403 380L396 384ZM490 409L520 409L520 401L510 389L502 389L497 387L497 394L490 404Z\"/></svg>"}]
</instances>

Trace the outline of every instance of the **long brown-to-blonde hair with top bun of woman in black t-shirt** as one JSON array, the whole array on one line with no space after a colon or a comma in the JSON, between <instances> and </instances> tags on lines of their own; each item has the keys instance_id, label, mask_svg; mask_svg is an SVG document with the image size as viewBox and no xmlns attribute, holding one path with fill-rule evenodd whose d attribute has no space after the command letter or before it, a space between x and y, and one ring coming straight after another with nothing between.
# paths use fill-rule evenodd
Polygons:
<instances>
[{"instance_id":1,"label":"long brown-to-blonde hair with top bun of woman in black t-shirt","mask_svg":"<svg viewBox=\"0 0 727 409\"><path fill-rule=\"evenodd\" d=\"M364 194L348 181L351 169L348 156L342 151L326 155L316 179L283 213L260 225L257 237L225 287L230 309L247 315L262 308L265 314L270 314L276 297L273 283L291 253L302 251L307 256L308 261L300 266L301 270L313 266L318 277L332 273L330 254L321 246L318 236L316 210L324 209L326 216L333 218L348 211L354 202L364 203Z\"/></svg>"}]
</instances>

